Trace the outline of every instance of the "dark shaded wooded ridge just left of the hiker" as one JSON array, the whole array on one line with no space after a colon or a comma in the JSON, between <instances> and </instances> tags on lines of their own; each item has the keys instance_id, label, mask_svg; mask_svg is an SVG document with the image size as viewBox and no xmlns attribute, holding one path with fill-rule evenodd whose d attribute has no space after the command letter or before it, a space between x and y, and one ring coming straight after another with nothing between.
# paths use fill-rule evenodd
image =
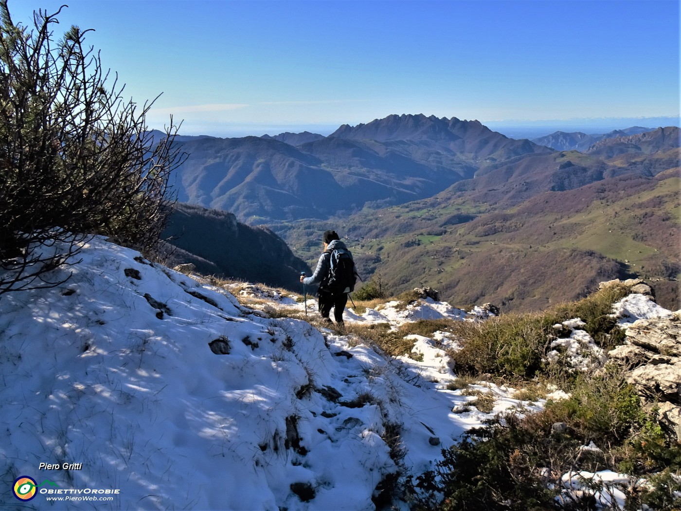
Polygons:
<instances>
[{"instance_id":1,"label":"dark shaded wooded ridge just left of the hiker","mask_svg":"<svg viewBox=\"0 0 681 511\"><path fill-rule=\"evenodd\" d=\"M232 213L176 204L164 238L178 250L169 264L191 262L204 275L216 275L297 290L309 266L266 227L251 227Z\"/></svg>"}]
</instances>

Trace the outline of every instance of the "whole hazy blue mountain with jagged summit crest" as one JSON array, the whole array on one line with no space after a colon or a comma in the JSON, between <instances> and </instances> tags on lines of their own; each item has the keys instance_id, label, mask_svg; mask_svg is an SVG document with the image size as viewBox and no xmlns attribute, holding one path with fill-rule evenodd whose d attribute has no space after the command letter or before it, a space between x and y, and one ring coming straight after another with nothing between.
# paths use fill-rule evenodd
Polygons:
<instances>
[{"instance_id":1,"label":"whole hazy blue mountain with jagged summit crest","mask_svg":"<svg viewBox=\"0 0 681 511\"><path fill-rule=\"evenodd\" d=\"M277 137L180 140L189 158L176 171L178 198L249 223L320 219L426 198L481 166L552 152L477 121L424 115L343 125L326 138Z\"/></svg>"}]
</instances>

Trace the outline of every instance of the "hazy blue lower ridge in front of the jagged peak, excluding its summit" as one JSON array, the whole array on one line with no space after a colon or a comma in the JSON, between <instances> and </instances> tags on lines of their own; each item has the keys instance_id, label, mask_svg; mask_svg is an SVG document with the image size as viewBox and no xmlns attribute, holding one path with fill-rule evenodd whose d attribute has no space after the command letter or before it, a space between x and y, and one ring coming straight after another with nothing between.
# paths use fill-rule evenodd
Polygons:
<instances>
[{"instance_id":1,"label":"hazy blue lower ridge in front of the jagged peak, excluding its summit","mask_svg":"<svg viewBox=\"0 0 681 511\"><path fill-rule=\"evenodd\" d=\"M242 221L323 218L368 202L428 197L473 176L456 157L424 162L379 143L321 139L296 148L257 137L186 142L176 170L183 202L232 211ZM428 155L427 155L428 156Z\"/></svg>"}]
</instances>

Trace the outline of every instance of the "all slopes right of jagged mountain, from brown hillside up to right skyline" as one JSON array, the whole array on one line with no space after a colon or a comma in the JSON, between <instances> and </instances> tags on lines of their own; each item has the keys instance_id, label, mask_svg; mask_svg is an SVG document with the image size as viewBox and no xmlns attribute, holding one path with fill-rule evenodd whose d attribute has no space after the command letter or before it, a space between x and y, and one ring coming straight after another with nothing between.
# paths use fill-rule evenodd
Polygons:
<instances>
[{"instance_id":1,"label":"all slopes right of jagged mountain, from brown hillside up to right skyline","mask_svg":"<svg viewBox=\"0 0 681 511\"><path fill-rule=\"evenodd\" d=\"M636 276L655 279L660 303L678 309L678 137L665 127L604 139L586 153L486 162L430 198L336 217L317 230L338 229L362 277L379 273L394 293L431 285L458 305L527 311ZM273 228L313 260L309 223Z\"/></svg>"}]
</instances>

